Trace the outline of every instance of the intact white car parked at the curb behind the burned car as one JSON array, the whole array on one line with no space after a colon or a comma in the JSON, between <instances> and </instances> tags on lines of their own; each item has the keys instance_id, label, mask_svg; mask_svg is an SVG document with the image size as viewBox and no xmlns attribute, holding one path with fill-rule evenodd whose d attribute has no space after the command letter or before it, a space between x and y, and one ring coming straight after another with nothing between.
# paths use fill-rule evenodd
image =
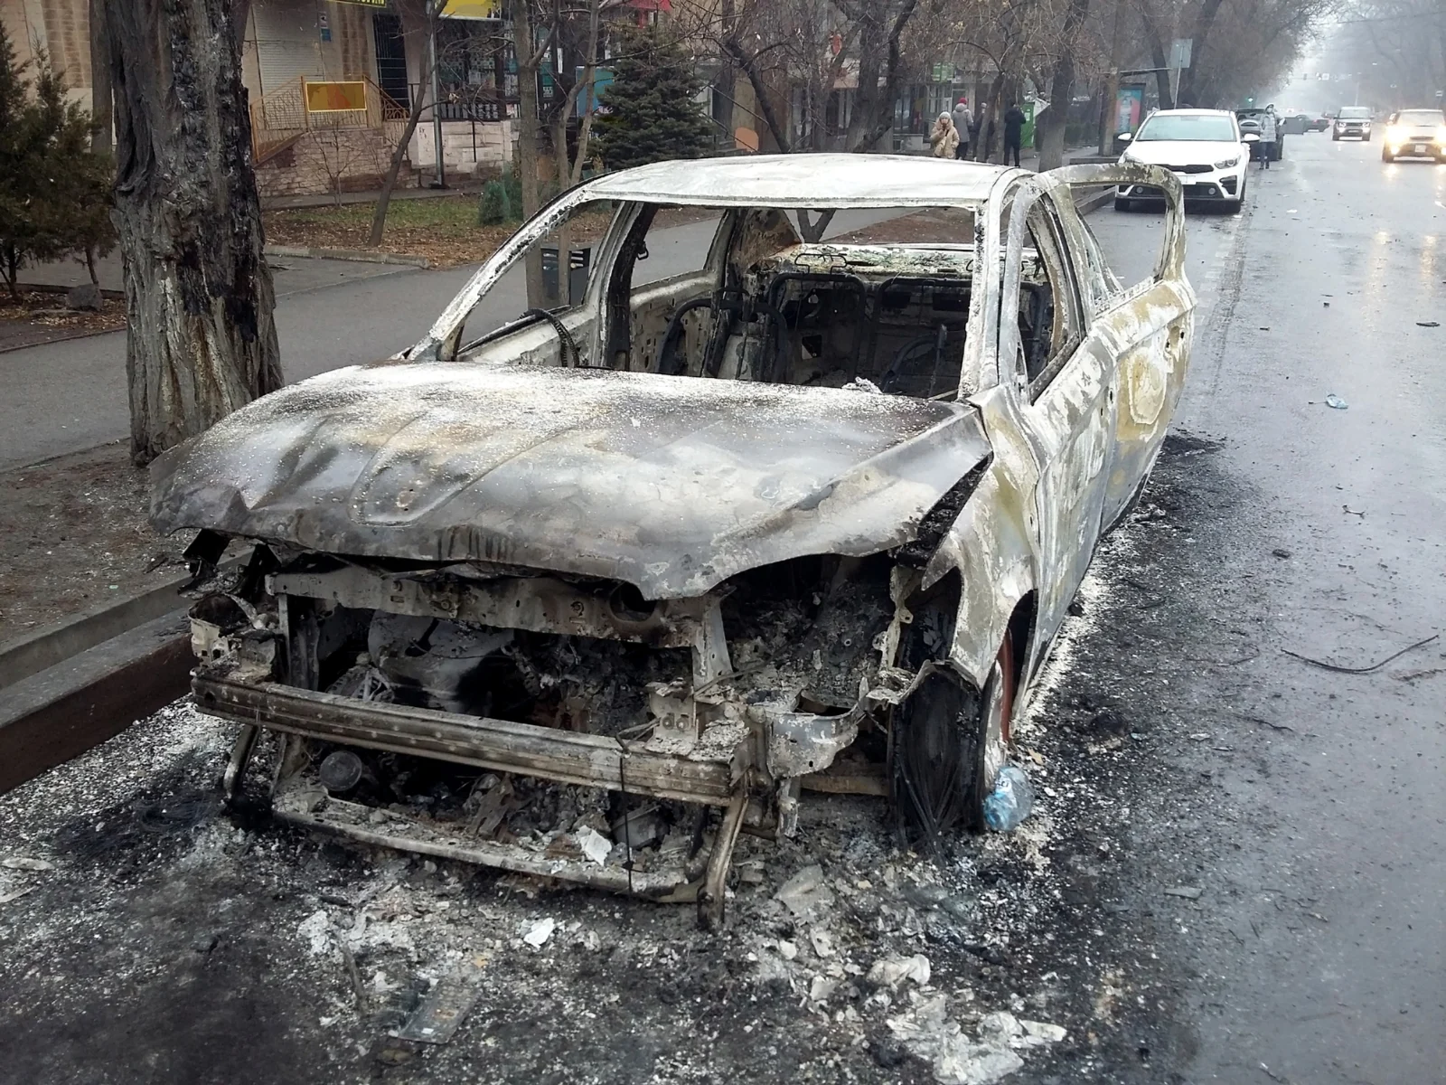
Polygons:
<instances>
[{"instance_id":1,"label":"intact white car parked at the curb behind the burned car","mask_svg":"<svg viewBox=\"0 0 1446 1085\"><path fill-rule=\"evenodd\" d=\"M1245 204L1249 142L1257 139L1241 136L1229 110L1155 110L1119 161L1164 166L1180 178L1187 201L1220 204L1238 214ZM1129 211L1137 203L1163 198L1150 185L1121 185L1115 190L1115 210Z\"/></svg>"}]
</instances>

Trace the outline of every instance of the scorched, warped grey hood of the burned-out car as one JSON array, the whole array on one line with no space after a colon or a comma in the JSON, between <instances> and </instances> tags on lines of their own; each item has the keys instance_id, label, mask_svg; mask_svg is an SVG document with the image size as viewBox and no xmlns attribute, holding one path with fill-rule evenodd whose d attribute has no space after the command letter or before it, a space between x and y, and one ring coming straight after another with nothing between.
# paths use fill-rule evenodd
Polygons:
<instances>
[{"instance_id":1,"label":"scorched, warped grey hood of the burned-out car","mask_svg":"<svg viewBox=\"0 0 1446 1085\"><path fill-rule=\"evenodd\" d=\"M963 404L390 362L273 392L163 454L152 522L685 597L791 557L901 545L988 454Z\"/></svg>"}]
</instances>

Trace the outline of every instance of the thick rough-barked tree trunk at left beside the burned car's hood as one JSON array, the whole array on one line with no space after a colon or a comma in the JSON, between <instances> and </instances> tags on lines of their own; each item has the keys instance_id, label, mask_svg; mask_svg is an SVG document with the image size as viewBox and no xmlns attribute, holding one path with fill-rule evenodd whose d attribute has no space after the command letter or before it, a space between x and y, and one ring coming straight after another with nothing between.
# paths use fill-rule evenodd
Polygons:
<instances>
[{"instance_id":1,"label":"thick rough-barked tree trunk at left beside the burned car's hood","mask_svg":"<svg viewBox=\"0 0 1446 1085\"><path fill-rule=\"evenodd\" d=\"M137 464L281 386L230 0L106 0Z\"/></svg>"}]
</instances>

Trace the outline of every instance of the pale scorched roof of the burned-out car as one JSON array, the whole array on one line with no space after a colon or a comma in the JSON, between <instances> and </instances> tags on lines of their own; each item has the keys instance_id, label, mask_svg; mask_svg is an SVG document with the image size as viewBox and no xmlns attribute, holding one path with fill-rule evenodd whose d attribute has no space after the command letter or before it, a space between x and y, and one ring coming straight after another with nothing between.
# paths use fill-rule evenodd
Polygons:
<instances>
[{"instance_id":1,"label":"pale scorched roof of the burned-out car","mask_svg":"<svg viewBox=\"0 0 1446 1085\"><path fill-rule=\"evenodd\" d=\"M622 169L586 190L599 200L700 207L947 207L986 201L1009 172L920 155L737 155Z\"/></svg>"}]
</instances>

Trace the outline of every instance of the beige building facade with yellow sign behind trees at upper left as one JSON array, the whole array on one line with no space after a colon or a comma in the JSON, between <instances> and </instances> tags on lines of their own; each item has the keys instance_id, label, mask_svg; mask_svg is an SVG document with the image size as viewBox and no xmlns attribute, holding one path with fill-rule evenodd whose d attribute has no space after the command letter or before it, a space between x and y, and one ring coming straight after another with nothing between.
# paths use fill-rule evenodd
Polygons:
<instances>
[{"instance_id":1,"label":"beige building facade with yellow sign behind trees at upper left","mask_svg":"<svg viewBox=\"0 0 1446 1085\"><path fill-rule=\"evenodd\" d=\"M437 56L448 176L497 172L513 156L516 59L502 0L448 0L435 54L421 4L252 0L241 48L262 195L376 188ZM409 17L412 14L414 17ZM22 61L43 51L68 94L93 104L88 0L0 0ZM402 184L435 172L437 126L424 111Z\"/></svg>"}]
</instances>

